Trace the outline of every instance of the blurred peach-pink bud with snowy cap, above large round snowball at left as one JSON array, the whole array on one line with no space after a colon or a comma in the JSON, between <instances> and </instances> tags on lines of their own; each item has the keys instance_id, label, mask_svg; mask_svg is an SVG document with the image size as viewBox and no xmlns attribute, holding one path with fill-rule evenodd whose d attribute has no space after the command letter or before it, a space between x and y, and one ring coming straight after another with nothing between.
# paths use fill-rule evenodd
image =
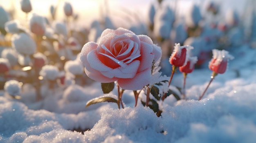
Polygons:
<instances>
[{"instance_id":1,"label":"blurred peach-pink bud with snowy cap, above large round snowball at left","mask_svg":"<svg viewBox=\"0 0 256 143\"><path fill-rule=\"evenodd\" d=\"M45 18L40 15L33 14L29 20L29 29L37 35L45 34Z\"/></svg>"}]
</instances>

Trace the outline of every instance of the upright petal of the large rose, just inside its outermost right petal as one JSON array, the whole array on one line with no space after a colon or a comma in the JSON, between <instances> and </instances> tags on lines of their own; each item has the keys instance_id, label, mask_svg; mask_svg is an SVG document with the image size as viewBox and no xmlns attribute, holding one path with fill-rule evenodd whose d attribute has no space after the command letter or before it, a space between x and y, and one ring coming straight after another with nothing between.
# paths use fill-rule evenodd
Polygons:
<instances>
[{"instance_id":1,"label":"upright petal of the large rose, just inside its outermost right petal","mask_svg":"<svg viewBox=\"0 0 256 143\"><path fill-rule=\"evenodd\" d=\"M150 68L152 67L152 62L154 59L154 54L152 52L153 52L152 45L145 42L141 42L141 51L140 51L141 56L139 57L139 61L141 62L141 64L139 66L138 72L141 72L148 67Z\"/></svg>"}]
</instances>

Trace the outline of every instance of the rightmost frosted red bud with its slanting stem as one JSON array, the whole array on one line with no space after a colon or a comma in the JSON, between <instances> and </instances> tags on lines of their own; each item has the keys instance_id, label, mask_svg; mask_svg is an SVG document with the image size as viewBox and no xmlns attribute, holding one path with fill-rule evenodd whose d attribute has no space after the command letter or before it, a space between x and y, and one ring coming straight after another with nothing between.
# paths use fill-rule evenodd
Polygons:
<instances>
[{"instance_id":1,"label":"rightmost frosted red bud with its slanting stem","mask_svg":"<svg viewBox=\"0 0 256 143\"><path fill-rule=\"evenodd\" d=\"M210 86L214 77L216 77L216 75L218 74L225 73L229 59L234 59L234 57L232 55L229 55L229 52L225 50L220 51L217 49L213 49L212 53L213 53L213 57L209 62L209 69L213 71L211 80L198 100L202 99L202 97L204 96L204 93L206 92L207 88Z\"/></svg>"}]
</instances>

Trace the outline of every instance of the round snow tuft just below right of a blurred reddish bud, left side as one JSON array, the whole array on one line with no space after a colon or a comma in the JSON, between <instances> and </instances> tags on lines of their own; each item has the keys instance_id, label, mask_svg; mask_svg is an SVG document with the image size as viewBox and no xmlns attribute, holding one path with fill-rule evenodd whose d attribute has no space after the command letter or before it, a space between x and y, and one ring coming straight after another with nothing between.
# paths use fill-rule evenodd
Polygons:
<instances>
[{"instance_id":1,"label":"round snow tuft just below right of a blurred reddish bud, left side","mask_svg":"<svg viewBox=\"0 0 256 143\"><path fill-rule=\"evenodd\" d=\"M59 75L59 70L56 66L45 65L40 70L39 75L47 80L55 80Z\"/></svg>"}]
</instances>

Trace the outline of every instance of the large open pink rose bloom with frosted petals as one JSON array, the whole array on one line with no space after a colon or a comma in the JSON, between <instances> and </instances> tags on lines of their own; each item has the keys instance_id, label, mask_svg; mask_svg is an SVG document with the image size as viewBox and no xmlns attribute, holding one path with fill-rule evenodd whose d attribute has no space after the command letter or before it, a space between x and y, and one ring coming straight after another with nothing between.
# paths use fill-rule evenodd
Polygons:
<instances>
[{"instance_id":1,"label":"large open pink rose bloom with frosted petals","mask_svg":"<svg viewBox=\"0 0 256 143\"><path fill-rule=\"evenodd\" d=\"M150 37L124 28L104 30L99 44L88 42L80 53L88 77L102 83L117 81L127 90L149 84L152 63L160 57L161 49Z\"/></svg>"}]
</instances>

